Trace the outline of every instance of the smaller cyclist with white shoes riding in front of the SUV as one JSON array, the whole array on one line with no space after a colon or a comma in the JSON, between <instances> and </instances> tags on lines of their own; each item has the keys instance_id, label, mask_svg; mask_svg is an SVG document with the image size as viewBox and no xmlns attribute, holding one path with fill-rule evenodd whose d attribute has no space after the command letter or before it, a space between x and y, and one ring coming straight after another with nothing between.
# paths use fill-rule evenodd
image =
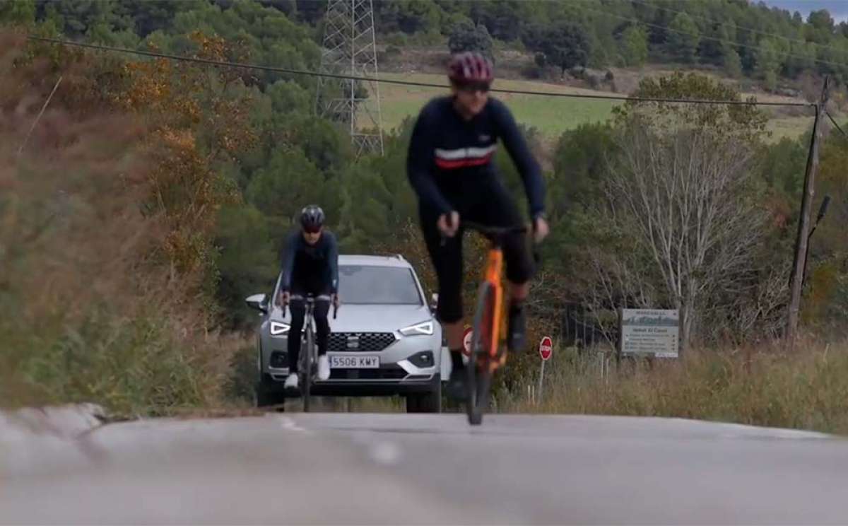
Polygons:
<instances>
[{"instance_id":1,"label":"smaller cyclist with white shoes riding in front of the SUV","mask_svg":"<svg viewBox=\"0 0 848 526\"><path fill-rule=\"evenodd\" d=\"M298 358L306 314L306 296L315 298L315 340L318 347L318 378L330 378L326 344L330 335L327 314L330 302L338 306L338 244L324 229L324 210L310 204L300 213L300 229L287 239L282 252L280 305L290 305L292 327L288 331L288 377L286 389L298 389Z\"/></svg>"}]
</instances>

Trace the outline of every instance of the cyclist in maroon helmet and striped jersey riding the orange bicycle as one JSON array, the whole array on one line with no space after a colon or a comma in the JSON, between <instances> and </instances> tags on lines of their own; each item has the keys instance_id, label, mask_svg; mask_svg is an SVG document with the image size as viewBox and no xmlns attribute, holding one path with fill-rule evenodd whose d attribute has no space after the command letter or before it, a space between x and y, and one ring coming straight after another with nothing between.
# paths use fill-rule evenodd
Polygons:
<instances>
[{"instance_id":1,"label":"cyclist in maroon helmet and striped jersey riding the orange bicycle","mask_svg":"<svg viewBox=\"0 0 848 526\"><path fill-rule=\"evenodd\" d=\"M505 104L488 96L492 64L480 53L459 53L448 66L451 95L432 99L412 131L406 170L419 203L421 232L438 277L438 316L444 324L453 370L449 395L465 395L462 361L462 220L489 227L516 227L521 213L495 170L497 141L522 176L537 242L548 234L544 218L544 179L538 162ZM443 238L448 238L443 243ZM507 349L525 340L524 304L533 275L526 235L514 233L503 243L510 283Z\"/></svg>"}]
</instances>

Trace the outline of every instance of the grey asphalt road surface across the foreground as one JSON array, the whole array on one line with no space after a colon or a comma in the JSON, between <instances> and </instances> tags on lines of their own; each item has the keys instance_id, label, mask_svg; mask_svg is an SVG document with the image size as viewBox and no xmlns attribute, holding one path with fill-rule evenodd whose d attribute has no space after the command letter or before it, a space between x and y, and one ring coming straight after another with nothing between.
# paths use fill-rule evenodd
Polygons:
<instances>
[{"instance_id":1,"label":"grey asphalt road surface across the foreground","mask_svg":"<svg viewBox=\"0 0 848 526\"><path fill-rule=\"evenodd\" d=\"M674 419L148 420L0 461L0 523L848 523L845 439Z\"/></svg>"}]
</instances>

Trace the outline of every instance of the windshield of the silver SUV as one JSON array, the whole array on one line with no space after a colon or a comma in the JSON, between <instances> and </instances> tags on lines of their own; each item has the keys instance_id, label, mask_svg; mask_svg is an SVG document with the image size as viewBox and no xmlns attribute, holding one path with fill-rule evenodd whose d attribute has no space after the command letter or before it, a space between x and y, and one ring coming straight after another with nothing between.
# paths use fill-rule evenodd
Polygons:
<instances>
[{"instance_id":1,"label":"windshield of the silver SUV","mask_svg":"<svg viewBox=\"0 0 848 526\"><path fill-rule=\"evenodd\" d=\"M421 305L415 277L397 266L338 266L338 294L356 305Z\"/></svg>"}]
</instances>

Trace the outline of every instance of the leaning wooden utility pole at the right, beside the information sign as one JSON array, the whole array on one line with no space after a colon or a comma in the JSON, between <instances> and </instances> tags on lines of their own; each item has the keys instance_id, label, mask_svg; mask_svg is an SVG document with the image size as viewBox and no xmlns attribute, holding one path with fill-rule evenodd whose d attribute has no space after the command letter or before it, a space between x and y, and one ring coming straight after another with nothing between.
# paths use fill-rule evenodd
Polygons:
<instances>
[{"instance_id":1,"label":"leaning wooden utility pole at the right, beside the information sign","mask_svg":"<svg viewBox=\"0 0 848 526\"><path fill-rule=\"evenodd\" d=\"M822 96L816 104L816 120L812 125L812 137L810 138L810 153L806 158L806 171L804 173L804 195L801 198L801 217L798 221L798 236L795 239L795 261L792 264L792 278L789 282L789 316L786 320L786 339L789 342L795 340L798 329L798 311L801 309L801 288L804 283L806 266L808 232L810 231L810 212L812 209L812 198L816 193L816 170L818 168L818 141L821 135L822 113L825 104L828 104L830 77L824 77Z\"/></svg>"}]
</instances>

